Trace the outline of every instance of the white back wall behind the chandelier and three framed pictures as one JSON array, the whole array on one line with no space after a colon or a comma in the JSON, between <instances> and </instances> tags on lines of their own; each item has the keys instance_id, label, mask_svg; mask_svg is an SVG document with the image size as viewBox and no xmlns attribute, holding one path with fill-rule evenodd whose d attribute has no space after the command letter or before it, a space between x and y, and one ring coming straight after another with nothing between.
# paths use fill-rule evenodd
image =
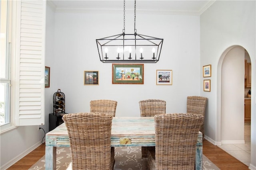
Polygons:
<instances>
[{"instance_id":1,"label":"white back wall behind the chandelier and three framed pictures","mask_svg":"<svg viewBox=\"0 0 256 170\"><path fill-rule=\"evenodd\" d=\"M126 14L126 33L134 18ZM112 64L99 60L96 39L122 33L123 14L56 13L51 82L66 96L66 112L89 112L90 100L118 102L116 116L140 116L140 100L166 100L166 112L186 112L200 94L199 16L136 14L137 33L164 38L160 61L144 64L144 84L112 84ZM173 70L173 85L156 85L156 70ZM99 71L99 86L84 86L84 70ZM49 96L49 100L52 96Z\"/></svg>"}]
</instances>

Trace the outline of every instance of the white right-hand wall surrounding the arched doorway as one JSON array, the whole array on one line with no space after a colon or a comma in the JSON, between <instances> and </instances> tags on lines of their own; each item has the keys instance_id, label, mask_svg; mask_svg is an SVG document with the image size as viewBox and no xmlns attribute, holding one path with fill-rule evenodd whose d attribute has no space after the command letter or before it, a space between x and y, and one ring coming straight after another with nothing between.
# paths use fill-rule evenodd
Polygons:
<instances>
[{"instance_id":1,"label":"white right-hand wall surrounding the arched doorway","mask_svg":"<svg viewBox=\"0 0 256 170\"><path fill-rule=\"evenodd\" d=\"M226 51L234 45L244 47L252 61L251 106L251 167L256 168L256 111L255 111L255 56L256 56L255 1L216 1L200 16L201 64L212 64L211 92L208 97L205 134L212 142L221 144L222 63ZM232 124L233 122L230 121Z\"/></svg>"}]
</instances>

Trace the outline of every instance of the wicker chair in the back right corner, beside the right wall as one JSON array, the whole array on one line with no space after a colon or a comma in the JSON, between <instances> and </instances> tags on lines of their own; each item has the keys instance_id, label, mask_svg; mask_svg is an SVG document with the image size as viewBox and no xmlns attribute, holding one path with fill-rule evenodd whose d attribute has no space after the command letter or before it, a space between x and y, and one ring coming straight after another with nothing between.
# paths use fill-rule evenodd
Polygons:
<instances>
[{"instance_id":1,"label":"wicker chair in the back right corner, beside the right wall","mask_svg":"<svg viewBox=\"0 0 256 170\"><path fill-rule=\"evenodd\" d=\"M188 96L187 97L187 113L205 115L205 108L207 98L201 96ZM200 132L203 134L204 139L204 122L200 127Z\"/></svg>"}]
</instances>

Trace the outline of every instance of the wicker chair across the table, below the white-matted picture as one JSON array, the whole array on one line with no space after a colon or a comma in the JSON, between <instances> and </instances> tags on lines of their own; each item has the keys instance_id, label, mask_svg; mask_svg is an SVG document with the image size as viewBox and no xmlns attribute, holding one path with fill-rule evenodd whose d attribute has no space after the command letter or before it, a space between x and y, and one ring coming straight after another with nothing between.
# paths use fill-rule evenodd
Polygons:
<instances>
[{"instance_id":1,"label":"wicker chair across the table, below the white-matted picture","mask_svg":"<svg viewBox=\"0 0 256 170\"><path fill-rule=\"evenodd\" d=\"M153 117L156 114L166 113L166 101L158 99L141 100L140 117ZM142 158L148 157L148 150L154 150L155 147L141 147Z\"/></svg>"}]
</instances>

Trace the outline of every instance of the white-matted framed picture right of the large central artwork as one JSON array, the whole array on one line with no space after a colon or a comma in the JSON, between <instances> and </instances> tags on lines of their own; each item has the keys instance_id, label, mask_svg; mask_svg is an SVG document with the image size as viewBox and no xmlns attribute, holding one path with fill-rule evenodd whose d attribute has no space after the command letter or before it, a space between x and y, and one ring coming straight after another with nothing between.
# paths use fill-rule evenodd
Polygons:
<instances>
[{"instance_id":1,"label":"white-matted framed picture right of the large central artwork","mask_svg":"<svg viewBox=\"0 0 256 170\"><path fill-rule=\"evenodd\" d=\"M172 85L172 70L156 70L156 85Z\"/></svg>"}]
</instances>

